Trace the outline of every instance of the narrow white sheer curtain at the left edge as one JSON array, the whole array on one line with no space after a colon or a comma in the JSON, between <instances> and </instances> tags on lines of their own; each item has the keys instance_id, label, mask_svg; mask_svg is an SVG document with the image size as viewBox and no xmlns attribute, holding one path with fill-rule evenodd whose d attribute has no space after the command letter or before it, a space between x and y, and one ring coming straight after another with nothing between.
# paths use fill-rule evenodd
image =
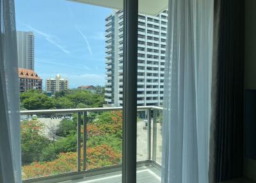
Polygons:
<instances>
[{"instance_id":1,"label":"narrow white sheer curtain at the left edge","mask_svg":"<svg viewBox=\"0 0 256 183\"><path fill-rule=\"evenodd\" d=\"M21 181L17 43L13 0L0 0L0 182Z\"/></svg>"}]
</instances>

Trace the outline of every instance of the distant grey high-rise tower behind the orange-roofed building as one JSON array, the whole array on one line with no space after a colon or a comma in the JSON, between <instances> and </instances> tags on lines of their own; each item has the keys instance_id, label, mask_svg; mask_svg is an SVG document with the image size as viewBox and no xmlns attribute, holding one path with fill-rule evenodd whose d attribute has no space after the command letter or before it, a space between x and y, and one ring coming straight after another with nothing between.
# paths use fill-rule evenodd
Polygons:
<instances>
[{"instance_id":1,"label":"distant grey high-rise tower behind the orange-roofed building","mask_svg":"<svg viewBox=\"0 0 256 183\"><path fill-rule=\"evenodd\" d=\"M19 68L35 69L35 38L33 32L17 31Z\"/></svg>"}]
</instances>

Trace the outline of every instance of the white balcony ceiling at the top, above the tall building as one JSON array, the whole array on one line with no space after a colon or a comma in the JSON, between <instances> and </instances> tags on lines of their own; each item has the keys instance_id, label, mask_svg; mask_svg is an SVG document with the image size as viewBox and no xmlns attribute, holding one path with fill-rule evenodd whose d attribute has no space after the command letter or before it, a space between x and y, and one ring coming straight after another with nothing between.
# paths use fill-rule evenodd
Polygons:
<instances>
[{"instance_id":1,"label":"white balcony ceiling at the top, above the tall building","mask_svg":"<svg viewBox=\"0 0 256 183\"><path fill-rule=\"evenodd\" d=\"M116 10L123 9L123 0L69 0L79 3L103 6ZM129 1L129 0L128 0ZM157 15L168 8L168 0L139 0L139 13Z\"/></svg>"}]
</instances>

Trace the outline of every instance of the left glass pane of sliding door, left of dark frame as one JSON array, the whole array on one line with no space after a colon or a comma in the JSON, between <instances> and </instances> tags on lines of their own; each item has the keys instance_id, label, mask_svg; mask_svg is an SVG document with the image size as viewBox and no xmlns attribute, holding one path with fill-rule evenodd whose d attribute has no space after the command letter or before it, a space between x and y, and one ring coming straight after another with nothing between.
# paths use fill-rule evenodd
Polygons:
<instances>
[{"instance_id":1,"label":"left glass pane of sliding door, left of dark frame","mask_svg":"<svg viewBox=\"0 0 256 183\"><path fill-rule=\"evenodd\" d=\"M15 1L23 180L122 170L122 6Z\"/></svg>"}]
</instances>

